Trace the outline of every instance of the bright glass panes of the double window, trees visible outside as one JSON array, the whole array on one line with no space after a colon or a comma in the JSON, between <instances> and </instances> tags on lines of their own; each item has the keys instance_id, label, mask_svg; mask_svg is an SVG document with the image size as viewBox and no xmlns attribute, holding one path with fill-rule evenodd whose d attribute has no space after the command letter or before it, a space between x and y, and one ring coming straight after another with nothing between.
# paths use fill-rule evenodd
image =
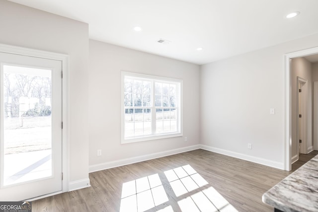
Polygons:
<instances>
[{"instance_id":1,"label":"bright glass panes of the double window, trees visible outside","mask_svg":"<svg viewBox=\"0 0 318 212\"><path fill-rule=\"evenodd\" d=\"M176 82L125 76L125 138L177 133L178 89L179 84ZM152 120L152 117L156 120Z\"/></svg>"}]
</instances>

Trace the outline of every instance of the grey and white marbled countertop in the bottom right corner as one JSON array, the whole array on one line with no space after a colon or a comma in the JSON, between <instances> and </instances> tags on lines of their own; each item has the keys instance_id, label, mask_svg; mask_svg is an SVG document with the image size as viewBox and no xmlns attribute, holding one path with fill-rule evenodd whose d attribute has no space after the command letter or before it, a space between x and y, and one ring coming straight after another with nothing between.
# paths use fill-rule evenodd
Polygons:
<instances>
[{"instance_id":1,"label":"grey and white marbled countertop in the bottom right corner","mask_svg":"<svg viewBox=\"0 0 318 212\"><path fill-rule=\"evenodd\" d=\"M318 212L318 155L264 193L262 200L284 212Z\"/></svg>"}]
</instances>

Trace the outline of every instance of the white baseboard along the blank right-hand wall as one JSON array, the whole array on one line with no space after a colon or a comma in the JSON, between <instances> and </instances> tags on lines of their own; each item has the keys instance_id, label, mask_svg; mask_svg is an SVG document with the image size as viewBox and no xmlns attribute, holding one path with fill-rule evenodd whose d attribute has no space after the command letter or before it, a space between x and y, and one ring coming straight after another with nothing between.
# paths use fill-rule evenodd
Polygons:
<instances>
[{"instance_id":1,"label":"white baseboard along the blank right-hand wall","mask_svg":"<svg viewBox=\"0 0 318 212\"><path fill-rule=\"evenodd\" d=\"M267 160L267 159L264 159L264 158L254 157L254 156L250 156L250 155L247 155L247 154L242 154L242 153L229 151L229 150L221 149L221 148L216 148L216 147L213 147L213 146L208 146L208 145L203 145L203 144L199 144L199 146L200 146L200 148L208 150L208 151L212 151L212 152L228 155L228 156L231 156L231 157L236 157L236 158L239 158L239 159L251 161L251 162L254 162L254 163L259 163L259 164L262 164L262 165L265 165L265 166L270 166L270 167L274 167L274 168L278 168L278 169L284 170L284 163L281 163L281 162L277 162L277 161L273 161L273 160Z\"/></svg>"}]
</instances>

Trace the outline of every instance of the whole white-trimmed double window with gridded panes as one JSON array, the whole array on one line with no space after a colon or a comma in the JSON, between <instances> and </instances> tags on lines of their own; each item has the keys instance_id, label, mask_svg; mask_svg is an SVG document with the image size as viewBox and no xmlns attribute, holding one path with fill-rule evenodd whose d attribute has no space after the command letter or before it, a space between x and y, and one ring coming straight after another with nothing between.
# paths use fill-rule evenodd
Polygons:
<instances>
[{"instance_id":1,"label":"whole white-trimmed double window with gridded panes","mask_svg":"<svg viewBox=\"0 0 318 212\"><path fill-rule=\"evenodd\" d=\"M182 136L182 80L122 71L122 143Z\"/></svg>"}]
</instances>

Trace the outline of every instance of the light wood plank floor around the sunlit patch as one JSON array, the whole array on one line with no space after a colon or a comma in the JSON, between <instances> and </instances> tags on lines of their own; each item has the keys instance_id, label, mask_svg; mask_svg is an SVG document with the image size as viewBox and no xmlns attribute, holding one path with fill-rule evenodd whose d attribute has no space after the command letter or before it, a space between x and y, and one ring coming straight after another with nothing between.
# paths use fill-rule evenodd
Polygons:
<instances>
[{"instance_id":1,"label":"light wood plank floor around the sunlit patch","mask_svg":"<svg viewBox=\"0 0 318 212\"><path fill-rule=\"evenodd\" d=\"M318 154L301 155L293 171ZM176 197L164 171L189 164L208 184ZM261 197L291 172L283 171L237 158L197 149L158 159L121 166L89 174L91 187L32 202L33 212L119 212L122 185L153 174L159 174L168 202L149 211L171 206L180 208L178 201L207 188L217 190L239 212L273 212ZM213 200L211 200L213 202Z\"/></svg>"}]
</instances>

